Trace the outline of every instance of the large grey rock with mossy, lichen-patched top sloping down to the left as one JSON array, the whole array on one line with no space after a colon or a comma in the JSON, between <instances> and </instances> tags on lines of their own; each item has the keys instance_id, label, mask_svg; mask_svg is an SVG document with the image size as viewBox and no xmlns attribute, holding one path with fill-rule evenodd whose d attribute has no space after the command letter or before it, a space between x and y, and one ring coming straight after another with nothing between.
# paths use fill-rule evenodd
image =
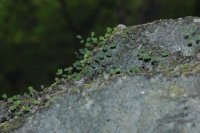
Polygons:
<instances>
[{"instance_id":1,"label":"large grey rock with mossy, lichen-patched top sloping down to the left","mask_svg":"<svg viewBox=\"0 0 200 133\"><path fill-rule=\"evenodd\" d=\"M93 80L54 86L62 92L48 106L7 132L199 133L199 20L159 20L115 32ZM95 51L92 60L102 53Z\"/></svg>"}]
</instances>

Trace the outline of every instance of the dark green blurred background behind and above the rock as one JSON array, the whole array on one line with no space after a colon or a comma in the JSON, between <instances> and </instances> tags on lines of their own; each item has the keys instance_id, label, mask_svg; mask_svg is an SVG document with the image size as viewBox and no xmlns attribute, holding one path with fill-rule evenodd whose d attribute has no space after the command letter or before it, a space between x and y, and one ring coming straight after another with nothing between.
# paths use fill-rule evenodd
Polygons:
<instances>
[{"instance_id":1,"label":"dark green blurred background behind and above the rock","mask_svg":"<svg viewBox=\"0 0 200 133\"><path fill-rule=\"evenodd\" d=\"M200 15L199 0L0 0L0 94L54 82L83 47L76 35Z\"/></svg>"}]
</instances>

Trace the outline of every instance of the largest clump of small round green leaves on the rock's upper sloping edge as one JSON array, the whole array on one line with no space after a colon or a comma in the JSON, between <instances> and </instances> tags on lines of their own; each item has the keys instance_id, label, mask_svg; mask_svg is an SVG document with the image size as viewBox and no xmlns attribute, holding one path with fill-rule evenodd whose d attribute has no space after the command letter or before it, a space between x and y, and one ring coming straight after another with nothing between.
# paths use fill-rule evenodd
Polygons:
<instances>
[{"instance_id":1,"label":"largest clump of small round green leaves on the rock's upper sloping edge","mask_svg":"<svg viewBox=\"0 0 200 133\"><path fill-rule=\"evenodd\" d=\"M85 45L84 49L79 49L79 60L73 63L71 67L58 69L56 75L56 81L64 81L65 79L71 81L78 81L83 76L92 76L95 74L96 65L101 65L101 61L105 58L110 58L109 49L115 49L116 44L112 43L107 45L106 41L110 39L111 35L117 31L117 28L107 27L107 32L104 36L95 36L95 32L91 32L90 37L83 39L81 35L76 37L80 40L80 43ZM102 50L95 59L94 49ZM111 73L119 73L119 68L113 69Z\"/></svg>"}]
</instances>

